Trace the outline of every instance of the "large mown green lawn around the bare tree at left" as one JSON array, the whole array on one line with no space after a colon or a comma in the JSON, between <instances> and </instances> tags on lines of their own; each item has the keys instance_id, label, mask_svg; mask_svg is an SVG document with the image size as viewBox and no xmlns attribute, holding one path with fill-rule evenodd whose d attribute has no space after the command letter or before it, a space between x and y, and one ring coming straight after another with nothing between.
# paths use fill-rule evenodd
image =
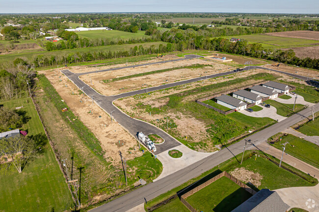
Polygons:
<instances>
[{"instance_id":1,"label":"large mown green lawn around the bare tree at left","mask_svg":"<svg viewBox=\"0 0 319 212\"><path fill-rule=\"evenodd\" d=\"M30 98L2 102L4 107L27 111L31 119L22 129L28 130L28 136L44 134L40 119ZM34 161L28 163L22 173L16 170L0 175L0 206L6 212L64 211L73 200L65 183L53 151L47 143L46 151Z\"/></svg>"}]
</instances>

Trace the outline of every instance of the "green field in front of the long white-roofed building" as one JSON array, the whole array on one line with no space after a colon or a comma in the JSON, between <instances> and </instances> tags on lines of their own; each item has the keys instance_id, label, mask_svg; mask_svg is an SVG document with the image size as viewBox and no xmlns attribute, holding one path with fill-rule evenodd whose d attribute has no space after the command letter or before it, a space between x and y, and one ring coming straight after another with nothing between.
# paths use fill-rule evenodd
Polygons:
<instances>
[{"instance_id":1,"label":"green field in front of the long white-roofed building","mask_svg":"<svg viewBox=\"0 0 319 212\"><path fill-rule=\"evenodd\" d=\"M80 38L88 38L88 39L141 39L150 37L145 35L145 31L137 31L137 33L132 32L124 32L118 30L90 30L90 31L80 31L76 32Z\"/></svg>"}]
</instances>

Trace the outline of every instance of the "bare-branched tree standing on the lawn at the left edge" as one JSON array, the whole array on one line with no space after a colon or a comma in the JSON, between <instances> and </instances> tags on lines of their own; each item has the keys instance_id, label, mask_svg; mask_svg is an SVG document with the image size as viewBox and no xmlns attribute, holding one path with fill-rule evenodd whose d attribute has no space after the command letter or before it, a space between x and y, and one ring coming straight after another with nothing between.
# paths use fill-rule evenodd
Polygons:
<instances>
[{"instance_id":1,"label":"bare-branched tree standing on the lawn at the left edge","mask_svg":"<svg viewBox=\"0 0 319 212\"><path fill-rule=\"evenodd\" d=\"M34 158L39 150L37 142L29 137L0 139L0 164L6 164L7 168L13 165L21 173L27 161Z\"/></svg>"}]
</instances>

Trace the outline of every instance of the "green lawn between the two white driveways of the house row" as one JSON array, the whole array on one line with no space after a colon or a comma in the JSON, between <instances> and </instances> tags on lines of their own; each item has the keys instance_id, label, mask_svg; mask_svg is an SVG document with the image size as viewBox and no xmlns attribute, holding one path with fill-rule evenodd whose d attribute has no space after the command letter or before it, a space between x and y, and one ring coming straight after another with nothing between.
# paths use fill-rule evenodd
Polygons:
<instances>
[{"instance_id":1,"label":"green lawn between the two white driveways of the house row","mask_svg":"<svg viewBox=\"0 0 319 212\"><path fill-rule=\"evenodd\" d=\"M275 107L277 109L277 114L283 117L290 117L295 113L298 113L299 111L303 110L305 108L302 104L296 104L294 107L294 111L292 111L293 104L284 104L277 102L272 99L268 99L264 101L266 104L270 104L272 107Z\"/></svg>"}]
</instances>

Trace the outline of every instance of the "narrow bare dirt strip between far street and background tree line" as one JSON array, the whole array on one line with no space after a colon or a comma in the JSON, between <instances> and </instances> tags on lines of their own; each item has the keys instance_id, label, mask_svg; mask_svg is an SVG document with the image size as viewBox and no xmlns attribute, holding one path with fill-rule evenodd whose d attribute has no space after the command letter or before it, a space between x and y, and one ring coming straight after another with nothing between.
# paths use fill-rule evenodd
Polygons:
<instances>
[{"instance_id":1,"label":"narrow bare dirt strip between far street and background tree line","mask_svg":"<svg viewBox=\"0 0 319 212\"><path fill-rule=\"evenodd\" d=\"M168 54L165 55L162 58L152 58L150 60L143 60L143 61L138 61L138 62L133 62L133 63L128 63L126 64L116 64L116 65L105 65L105 66L99 66L95 67L95 65L87 65L87 66L72 66L69 67L68 69L74 73L82 73L82 72L89 72L89 71L96 71L96 70L104 70L104 69L112 69L116 67L125 67L125 66L132 66L132 65L137 65L137 64L143 64L143 63L153 63L153 62L159 62L159 61L165 61L165 60L173 60L173 59L178 59L176 55ZM60 70L63 70L64 68L60 68ZM123 70L122 70L123 71Z\"/></svg>"}]
</instances>

